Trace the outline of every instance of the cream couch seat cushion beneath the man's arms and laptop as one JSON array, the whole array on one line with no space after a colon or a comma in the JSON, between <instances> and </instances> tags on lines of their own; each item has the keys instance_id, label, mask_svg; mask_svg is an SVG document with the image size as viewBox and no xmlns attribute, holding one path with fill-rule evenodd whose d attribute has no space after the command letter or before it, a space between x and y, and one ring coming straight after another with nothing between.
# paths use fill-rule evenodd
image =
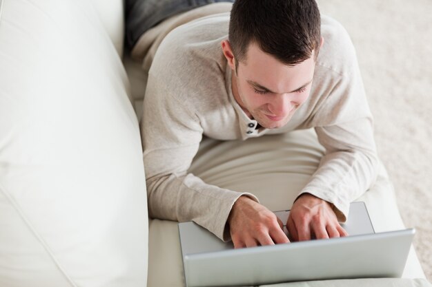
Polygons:
<instances>
[{"instance_id":1,"label":"cream couch seat cushion beneath the man's arms and laptop","mask_svg":"<svg viewBox=\"0 0 432 287\"><path fill-rule=\"evenodd\" d=\"M324 149L317 142L313 130L246 141L219 142L206 138L200 145L190 172L209 184L251 192L269 209L278 211L291 207L293 200L317 169L323 154ZM397 211L393 188L382 166L374 186L359 200L366 202L375 231L404 228ZM150 221L149 262L148 287L184 285L176 222ZM170 276L166 276L167 273ZM404 277L424 277L413 248ZM380 283L386 282L387 285L383 286L391 286L391 282L397 281L392 280ZM337 285L339 281L335 282L326 281L325 286L340 286ZM362 286L362 281L352 282L353 286ZM396 286L413 286L411 280L397 282L401 285Z\"/></svg>"}]
</instances>

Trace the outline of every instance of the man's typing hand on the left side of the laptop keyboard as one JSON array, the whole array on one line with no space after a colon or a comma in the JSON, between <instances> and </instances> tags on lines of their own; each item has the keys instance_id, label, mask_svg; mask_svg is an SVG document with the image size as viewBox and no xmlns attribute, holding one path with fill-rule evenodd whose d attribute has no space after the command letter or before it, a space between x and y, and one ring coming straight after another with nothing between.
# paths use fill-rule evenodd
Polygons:
<instances>
[{"instance_id":1,"label":"man's typing hand on the left side of the laptop keyboard","mask_svg":"<svg viewBox=\"0 0 432 287\"><path fill-rule=\"evenodd\" d=\"M234 248L290 242L275 213L244 195L234 203L228 224Z\"/></svg>"}]
</instances>

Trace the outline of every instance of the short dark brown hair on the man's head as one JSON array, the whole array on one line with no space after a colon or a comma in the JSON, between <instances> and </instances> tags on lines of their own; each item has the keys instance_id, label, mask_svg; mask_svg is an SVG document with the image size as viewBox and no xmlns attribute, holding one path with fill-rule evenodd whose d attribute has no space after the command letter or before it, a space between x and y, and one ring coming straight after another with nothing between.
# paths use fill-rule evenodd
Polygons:
<instances>
[{"instance_id":1,"label":"short dark brown hair on the man's head","mask_svg":"<svg viewBox=\"0 0 432 287\"><path fill-rule=\"evenodd\" d=\"M320 10L315 0L236 0L228 40L237 62L255 42L282 63L296 65L320 50Z\"/></svg>"}]
</instances>

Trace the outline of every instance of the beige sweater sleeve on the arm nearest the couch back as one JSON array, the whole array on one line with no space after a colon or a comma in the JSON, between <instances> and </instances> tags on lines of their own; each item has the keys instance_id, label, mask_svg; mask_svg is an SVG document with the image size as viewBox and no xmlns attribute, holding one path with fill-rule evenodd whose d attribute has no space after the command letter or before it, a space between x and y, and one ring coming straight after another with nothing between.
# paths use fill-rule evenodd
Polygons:
<instances>
[{"instance_id":1,"label":"beige sweater sleeve on the arm nearest the couch back","mask_svg":"<svg viewBox=\"0 0 432 287\"><path fill-rule=\"evenodd\" d=\"M141 136L150 217L194 221L220 239L229 240L226 220L238 193L206 184L188 173L203 129L190 103L178 100L151 74L144 98Z\"/></svg>"}]
</instances>

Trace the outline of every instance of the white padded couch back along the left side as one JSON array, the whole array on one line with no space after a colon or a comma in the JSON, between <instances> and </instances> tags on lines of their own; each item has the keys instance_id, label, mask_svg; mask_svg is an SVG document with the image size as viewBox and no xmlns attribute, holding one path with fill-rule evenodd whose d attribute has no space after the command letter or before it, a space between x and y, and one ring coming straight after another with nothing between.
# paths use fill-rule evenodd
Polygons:
<instances>
[{"instance_id":1,"label":"white padded couch back along the left side","mask_svg":"<svg viewBox=\"0 0 432 287\"><path fill-rule=\"evenodd\" d=\"M0 286L145 286L139 127L101 11L2 2Z\"/></svg>"}]
</instances>

